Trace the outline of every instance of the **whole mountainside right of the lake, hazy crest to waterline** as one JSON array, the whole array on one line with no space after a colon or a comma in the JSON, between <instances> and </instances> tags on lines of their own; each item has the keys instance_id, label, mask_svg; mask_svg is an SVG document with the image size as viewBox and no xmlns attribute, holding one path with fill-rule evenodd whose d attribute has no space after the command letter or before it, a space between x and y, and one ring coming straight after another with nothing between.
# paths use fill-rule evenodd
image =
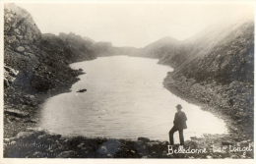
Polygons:
<instances>
[{"instance_id":1,"label":"whole mountainside right of the lake, hazy crest to waterline","mask_svg":"<svg viewBox=\"0 0 256 164\"><path fill-rule=\"evenodd\" d=\"M243 125L240 132L253 135L252 21L212 27L184 41L160 40L142 51L141 56L159 58L160 64L174 68L165 87L214 107Z\"/></svg>"}]
</instances>

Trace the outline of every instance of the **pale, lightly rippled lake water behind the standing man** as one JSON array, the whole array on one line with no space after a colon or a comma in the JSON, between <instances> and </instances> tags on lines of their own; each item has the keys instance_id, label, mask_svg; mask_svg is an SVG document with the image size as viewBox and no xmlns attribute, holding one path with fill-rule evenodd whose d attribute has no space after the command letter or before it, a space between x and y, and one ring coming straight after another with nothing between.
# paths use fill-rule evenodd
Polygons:
<instances>
[{"instance_id":1,"label":"pale, lightly rippled lake water behind the standing man","mask_svg":"<svg viewBox=\"0 0 256 164\"><path fill-rule=\"evenodd\" d=\"M163 87L170 67L158 60L127 56L101 57L72 64L87 74L72 91L49 98L41 110L40 127L64 136L168 140L175 105L186 113L185 139L226 133L224 121L187 103ZM83 93L76 92L87 88ZM175 141L178 133L176 133Z\"/></svg>"}]
</instances>

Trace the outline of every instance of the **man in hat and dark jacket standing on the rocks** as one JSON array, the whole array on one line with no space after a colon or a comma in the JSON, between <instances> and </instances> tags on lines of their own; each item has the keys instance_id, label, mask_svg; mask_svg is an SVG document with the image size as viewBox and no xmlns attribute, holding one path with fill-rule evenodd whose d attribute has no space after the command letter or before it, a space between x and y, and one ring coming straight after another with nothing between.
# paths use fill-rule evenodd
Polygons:
<instances>
[{"instance_id":1,"label":"man in hat and dark jacket standing on the rocks","mask_svg":"<svg viewBox=\"0 0 256 164\"><path fill-rule=\"evenodd\" d=\"M183 137L183 130L187 129L187 117L183 111L181 111L182 106L180 104L176 105L177 112L175 113L173 124L174 126L169 131L169 144L173 145L173 134L178 131L179 133L179 140L180 145L184 145L184 137Z\"/></svg>"}]
</instances>

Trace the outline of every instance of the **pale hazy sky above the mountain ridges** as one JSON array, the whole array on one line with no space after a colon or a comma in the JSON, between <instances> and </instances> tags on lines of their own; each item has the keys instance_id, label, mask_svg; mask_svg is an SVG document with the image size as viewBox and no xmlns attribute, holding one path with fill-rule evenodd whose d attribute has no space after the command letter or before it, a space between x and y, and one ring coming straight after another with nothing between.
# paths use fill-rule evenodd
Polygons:
<instances>
[{"instance_id":1,"label":"pale hazy sky above the mountain ridges","mask_svg":"<svg viewBox=\"0 0 256 164\"><path fill-rule=\"evenodd\" d=\"M253 15L245 4L22 3L41 32L75 32L115 46L142 47L164 36L180 40L210 25Z\"/></svg>"}]
</instances>

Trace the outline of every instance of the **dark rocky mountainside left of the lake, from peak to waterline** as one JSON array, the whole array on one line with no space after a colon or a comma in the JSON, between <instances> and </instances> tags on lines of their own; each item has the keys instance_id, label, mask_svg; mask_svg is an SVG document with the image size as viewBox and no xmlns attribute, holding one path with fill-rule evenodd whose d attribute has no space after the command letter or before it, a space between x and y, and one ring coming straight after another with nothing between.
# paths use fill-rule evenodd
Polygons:
<instances>
[{"instance_id":1,"label":"dark rocky mountainside left of the lake, from peak to waterline","mask_svg":"<svg viewBox=\"0 0 256 164\"><path fill-rule=\"evenodd\" d=\"M68 90L83 74L69 64L95 59L98 47L94 40L74 33L41 33L26 10L5 4L5 135L15 135L25 122L35 123L32 113L38 105L47 96Z\"/></svg>"}]
</instances>

